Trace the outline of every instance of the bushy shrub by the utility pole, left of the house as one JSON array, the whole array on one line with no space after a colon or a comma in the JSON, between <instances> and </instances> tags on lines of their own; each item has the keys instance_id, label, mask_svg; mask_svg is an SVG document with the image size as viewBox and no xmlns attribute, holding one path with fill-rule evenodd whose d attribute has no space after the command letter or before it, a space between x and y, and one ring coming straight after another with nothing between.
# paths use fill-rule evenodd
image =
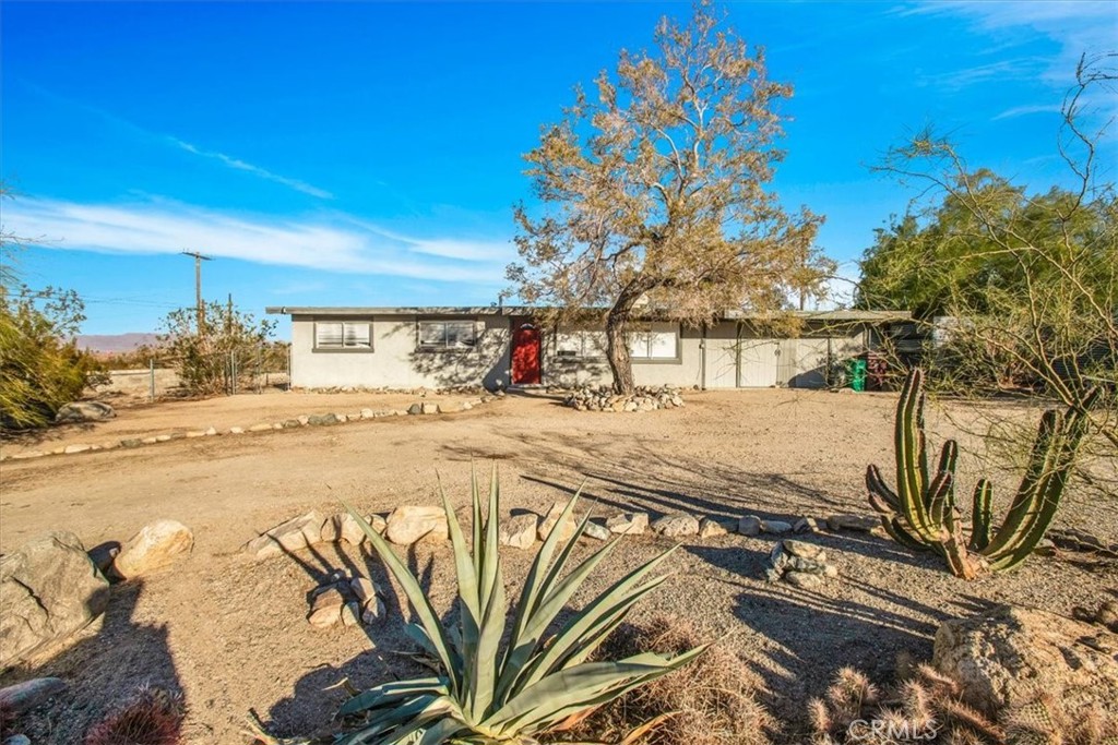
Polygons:
<instances>
[{"instance_id":1,"label":"bushy shrub by the utility pole, left of the house","mask_svg":"<svg viewBox=\"0 0 1118 745\"><path fill-rule=\"evenodd\" d=\"M197 308L179 308L163 321L159 342L164 359L195 395L233 392L269 357L268 337L275 322L257 322L252 314L221 303L203 303L201 328Z\"/></svg>"}]
</instances>

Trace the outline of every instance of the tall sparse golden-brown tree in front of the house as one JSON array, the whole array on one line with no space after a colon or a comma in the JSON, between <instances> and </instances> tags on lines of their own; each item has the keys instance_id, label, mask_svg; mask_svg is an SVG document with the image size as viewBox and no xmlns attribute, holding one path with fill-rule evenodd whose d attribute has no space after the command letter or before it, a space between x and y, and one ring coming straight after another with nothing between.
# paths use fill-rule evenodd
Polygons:
<instances>
[{"instance_id":1,"label":"tall sparse golden-brown tree in front of the house","mask_svg":"<svg viewBox=\"0 0 1118 745\"><path fill-rule=\"evenodd\" d=\"M664 18L652 51L623 50L595 85L524 156L542 211L517 208L509 278L556 319L607 308L606 356L627 393L641 303L694 324L730 307L776 311L819 292L831 265L813 248L822 219L787 213L766 189L792 88L709 3L685 27Z\"/></svg>"}]
</instances>

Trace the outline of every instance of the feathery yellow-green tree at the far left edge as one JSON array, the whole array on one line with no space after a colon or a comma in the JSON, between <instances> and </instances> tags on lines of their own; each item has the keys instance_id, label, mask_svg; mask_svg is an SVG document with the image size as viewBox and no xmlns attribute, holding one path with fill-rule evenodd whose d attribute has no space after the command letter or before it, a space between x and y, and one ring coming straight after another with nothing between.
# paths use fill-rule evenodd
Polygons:
<instances>
[{"instance_id":1,"label":"feathery yellow-green tree at the far left edge","mask_svg":"<svg viewBox=\"0 0 1118 745\"><path fill-rule=\"evenodd\" d=\"M0 185L0 198L10 192ZM85 306L74 290L32 289L13 269L32 242L0 227L0 429L48 424L101 372L74 336Z\"/></svg>"}]
</instances>

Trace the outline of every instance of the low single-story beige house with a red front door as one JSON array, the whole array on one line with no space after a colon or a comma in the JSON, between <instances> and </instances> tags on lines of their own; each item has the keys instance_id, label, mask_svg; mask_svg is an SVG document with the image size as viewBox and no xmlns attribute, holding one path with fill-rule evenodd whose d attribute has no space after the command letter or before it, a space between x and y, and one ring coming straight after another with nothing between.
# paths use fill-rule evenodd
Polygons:
<instances>
[{"instance_id":1,"label":"low single-story beige house with a red front door","mask_svg":"<svg viewBox=\"0 0 1118 745\"><path fill-rule=\"evenodd\" d=\"M268 307L292 319L294 388L607 384L603 326L546 328L530 307ZM629 340L637 385L822 388L908 312L794 312L795 336L728 311L700 327L644 321Z\"/></svg>"}]
</instances>

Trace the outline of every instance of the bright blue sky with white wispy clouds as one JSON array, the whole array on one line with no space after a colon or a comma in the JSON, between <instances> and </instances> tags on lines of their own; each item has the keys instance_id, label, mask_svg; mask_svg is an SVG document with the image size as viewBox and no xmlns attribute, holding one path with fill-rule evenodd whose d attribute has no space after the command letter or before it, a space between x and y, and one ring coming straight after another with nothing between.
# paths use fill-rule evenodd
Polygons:
<instances>
[{"instance_id":1,"label":"bright blue sky with white wispy clouds","mask_svg":"<svg viewBox=\"0 0 1118 745\"><path fill-rule=\"evenodd\" d=\"M1112 2L724 8L796 89L773 188L827 217L818 245L849 277L916 195L870 173L889 145L934 123L975 165L1060 183L1076 61L1118 48ZM6 0L0 176L19 197L0 208L42 239L18 269L77 289L91 334L192 305L182 249L216 258L207 298L257 314L487 305L530 200L521 155L665 13L690 6Z\"/></svg>"}]
</instances>

